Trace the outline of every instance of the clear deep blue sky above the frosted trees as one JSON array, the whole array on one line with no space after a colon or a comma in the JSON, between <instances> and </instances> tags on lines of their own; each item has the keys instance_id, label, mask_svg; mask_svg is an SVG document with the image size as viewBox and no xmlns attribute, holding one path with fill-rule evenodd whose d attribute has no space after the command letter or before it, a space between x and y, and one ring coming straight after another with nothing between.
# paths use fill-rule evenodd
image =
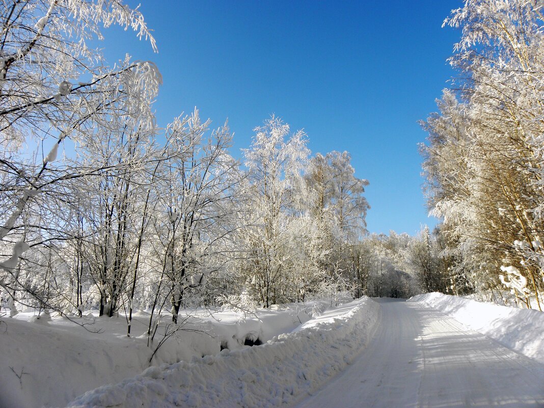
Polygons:
<instances>
[{"instance_id":1,"label":"clear deep blue sky above the frosted trees","mask_svg":"<svg viewBox=\"0 0 544 408\"><path fill-rule=\"evenodd\" d=\"M137 2L126 0L129 5ZM304 128L313 153L351 153L370 182L370 232L431 228L421 186L417 121L436 110L454 72L446 59L459 31L441 28L453 0L141 0L159 48L107 30L110 62L125 52L153 60L164 85L159 125L196 106L215 127L228 118L231 153L274 113Z\"/></svg>"}]
</instances>

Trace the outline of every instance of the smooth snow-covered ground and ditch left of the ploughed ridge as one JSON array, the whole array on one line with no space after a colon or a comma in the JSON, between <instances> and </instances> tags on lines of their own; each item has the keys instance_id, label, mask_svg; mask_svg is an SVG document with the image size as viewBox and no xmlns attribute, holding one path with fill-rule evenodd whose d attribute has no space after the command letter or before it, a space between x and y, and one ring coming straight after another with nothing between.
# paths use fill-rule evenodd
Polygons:
<instances>
[{"instance_id":1,"label":"smooth snow-covered ground and ditch left of the ploughed ridge","mask_svg":"<svg viewBox=\"0 0 544 408\"><path fill-rule=\"evenodd\" d=\"M330 305L313 301L273 306L254 315L193 311L182 330L160 346L152 364L201 359L218 354L221 346L243 348L246 338L266 342L319 316ZM123 316L89 314L73 319L84 327L62 318L36 320L34 312L0 318L0 407L64 406L86 391L141 374L164 338L163 325L147 347L149 313L135 314L130 338ZM164 320L168 323L168 317Z\"/></svg>"}]
</instances>

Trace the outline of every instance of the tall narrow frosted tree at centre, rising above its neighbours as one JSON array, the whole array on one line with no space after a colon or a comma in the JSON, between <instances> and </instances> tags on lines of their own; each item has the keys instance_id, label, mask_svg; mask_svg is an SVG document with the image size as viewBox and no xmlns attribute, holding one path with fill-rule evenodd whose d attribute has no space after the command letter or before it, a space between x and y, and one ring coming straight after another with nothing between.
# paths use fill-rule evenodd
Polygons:
<instances>
[{"instance_id":1,"label":"tall narrow frosted tree at centre, rising above its neighbours","mask_svg":"<svg viewBox=\"0 0 544 408\"><path fill-rule=\"evenodd\" d=\"M252 213L251 224L240 230L244 270L256 298L267 307L283 297L290 258L285 231L296 213L301 171L310 153L306 143L304 132L290 134L289 125L272 116L255 128L251 147L243 149L249 171L244 199Z\"/></svg>"}]
</instances>

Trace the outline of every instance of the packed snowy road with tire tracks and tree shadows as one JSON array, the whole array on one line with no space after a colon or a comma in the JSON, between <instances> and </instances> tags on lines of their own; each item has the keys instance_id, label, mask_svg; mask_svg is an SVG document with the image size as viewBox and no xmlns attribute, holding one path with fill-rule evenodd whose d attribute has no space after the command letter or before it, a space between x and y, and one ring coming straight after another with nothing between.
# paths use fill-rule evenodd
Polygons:
<instances>
[{"instance_id":1,"label":"packed snowy road with tire tracks and tree shadows","mask_svg":"<svg viewBox=\"0 0 544 408\"><path fill-rule=\"evenodd\" d=\"M296 408L544 407L543 364L420 303L378 301L368 347Z\"/></svg>"}]
</instances>

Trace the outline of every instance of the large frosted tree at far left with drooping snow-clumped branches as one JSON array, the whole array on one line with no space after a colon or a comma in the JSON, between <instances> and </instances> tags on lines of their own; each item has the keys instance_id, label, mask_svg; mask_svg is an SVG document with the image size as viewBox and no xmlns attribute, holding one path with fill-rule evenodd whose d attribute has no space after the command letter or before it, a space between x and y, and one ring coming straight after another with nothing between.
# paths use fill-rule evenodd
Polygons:
<instances>
[{"instance_id":1,"label":"large frosted tree at far left with drooping snow-clumped branches","mask_svg":"<svg viewBox=\"0 0 544 408\"><path fill-rule=\"evenodd\" d=\"M20 258L71 238L78 231L73 182L111 169L100 159L65 160L63 148L116 131L114 118L151 122L149 101L161 79L152 63L125 58L108 66L87 46L102 39L101 26L119 24L154 47L143 16L121 1L2 2L0 24L0 282L35 293L19 280Z\"/></svg>"}]
</instances>

